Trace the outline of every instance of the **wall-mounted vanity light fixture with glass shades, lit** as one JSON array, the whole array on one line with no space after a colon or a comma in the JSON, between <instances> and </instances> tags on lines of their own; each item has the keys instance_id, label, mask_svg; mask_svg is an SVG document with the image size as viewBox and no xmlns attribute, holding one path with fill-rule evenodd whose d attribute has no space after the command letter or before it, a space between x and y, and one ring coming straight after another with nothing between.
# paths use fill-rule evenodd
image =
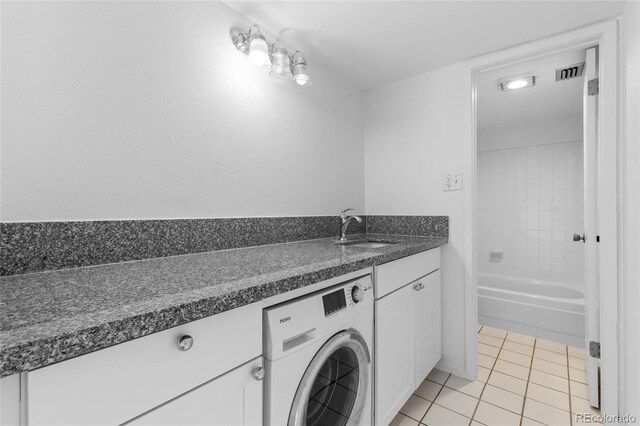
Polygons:
<instances>
[{"instance_id":1,"label":"wall-mounted vanity light fixture with glass shades, lit","mask_svg":"<svg viewBox=\"0 0 640 426\"><path fill-rule=\"evenodd\" d=\"M259 66L270 67L270 76L279 79L293 78L293 81L301 87L311 86L309 66L300 51L289 56L280 40L276 40L269 49L257 25L252 25L248 32L233 28L229 35L239 52L248 55L249 59Z\"/></svg>"}]
</instances>

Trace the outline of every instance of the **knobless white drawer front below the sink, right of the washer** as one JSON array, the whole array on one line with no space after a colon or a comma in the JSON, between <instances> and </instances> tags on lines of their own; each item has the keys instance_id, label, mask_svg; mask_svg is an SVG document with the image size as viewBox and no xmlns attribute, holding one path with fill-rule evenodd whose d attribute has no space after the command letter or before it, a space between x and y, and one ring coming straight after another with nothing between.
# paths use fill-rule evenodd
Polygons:
<instances>
[{"instance_id":1,"label":"knobless white drawer front below the sink, right of the washer","mask_svg":"<svg viewBox=\"0 0 640 426\"><path fill-rule=\"evenodd\" d=\"M440 269L440 247L376 266L375 297L379 299L436 269Z\"/></svg>"}]
</instances>

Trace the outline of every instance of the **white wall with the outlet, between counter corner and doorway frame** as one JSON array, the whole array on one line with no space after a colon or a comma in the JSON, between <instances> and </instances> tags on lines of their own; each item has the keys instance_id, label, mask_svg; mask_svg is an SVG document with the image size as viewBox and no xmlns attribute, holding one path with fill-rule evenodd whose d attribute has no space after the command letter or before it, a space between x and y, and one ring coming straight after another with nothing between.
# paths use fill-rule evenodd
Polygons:
<instances>
[{"instance_id":1,"label":"white wall with the outlet, between counter corner and doorway frame","mask_svg":"<svg viewBox=\"0 0 640 426\"><path fill-rule=\"evenodd\" d=\"M463 192L443 192L442 175L462 171L466 105L460 64L365 93L367 214L449 216L442 250L440 367L465 371Z\"/></svg>"}]
</instances>

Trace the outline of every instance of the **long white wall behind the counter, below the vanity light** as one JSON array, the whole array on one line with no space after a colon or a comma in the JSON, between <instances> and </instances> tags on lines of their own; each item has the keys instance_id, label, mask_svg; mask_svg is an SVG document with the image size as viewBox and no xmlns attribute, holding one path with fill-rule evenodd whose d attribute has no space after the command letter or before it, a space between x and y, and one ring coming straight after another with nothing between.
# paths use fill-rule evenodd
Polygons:
<instances>
[{"instance_id":1,"label":"long white wall behind the counter, below the vanity light","mask_svg":"<svg viewBox=\"0 0 640 426\"><path fill-rule=\"evenodd\" d=\"M362 210L361 91L313 58L309 89L269 77L229 39L250 24L220 2L2 2L0 219Z\"/></svg>"}]
</instances>

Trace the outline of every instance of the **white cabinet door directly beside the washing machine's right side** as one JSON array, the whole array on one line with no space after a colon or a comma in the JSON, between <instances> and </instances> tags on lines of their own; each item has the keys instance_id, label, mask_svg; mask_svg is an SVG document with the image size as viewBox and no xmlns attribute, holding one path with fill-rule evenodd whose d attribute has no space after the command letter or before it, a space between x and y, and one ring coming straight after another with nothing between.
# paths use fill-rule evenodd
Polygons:
<instances>
[{"instance_id":1,"label":"white cabinet door directly beside the washing machine's right side","mask_svg":"<svg viewBox=\"0 0 640 426\"><path fill-rule=\"evenodd\" d=\"M414 391L414 327L411 285L375 302L375 423L388 425Z\"/></svg>"}]
</instances>

